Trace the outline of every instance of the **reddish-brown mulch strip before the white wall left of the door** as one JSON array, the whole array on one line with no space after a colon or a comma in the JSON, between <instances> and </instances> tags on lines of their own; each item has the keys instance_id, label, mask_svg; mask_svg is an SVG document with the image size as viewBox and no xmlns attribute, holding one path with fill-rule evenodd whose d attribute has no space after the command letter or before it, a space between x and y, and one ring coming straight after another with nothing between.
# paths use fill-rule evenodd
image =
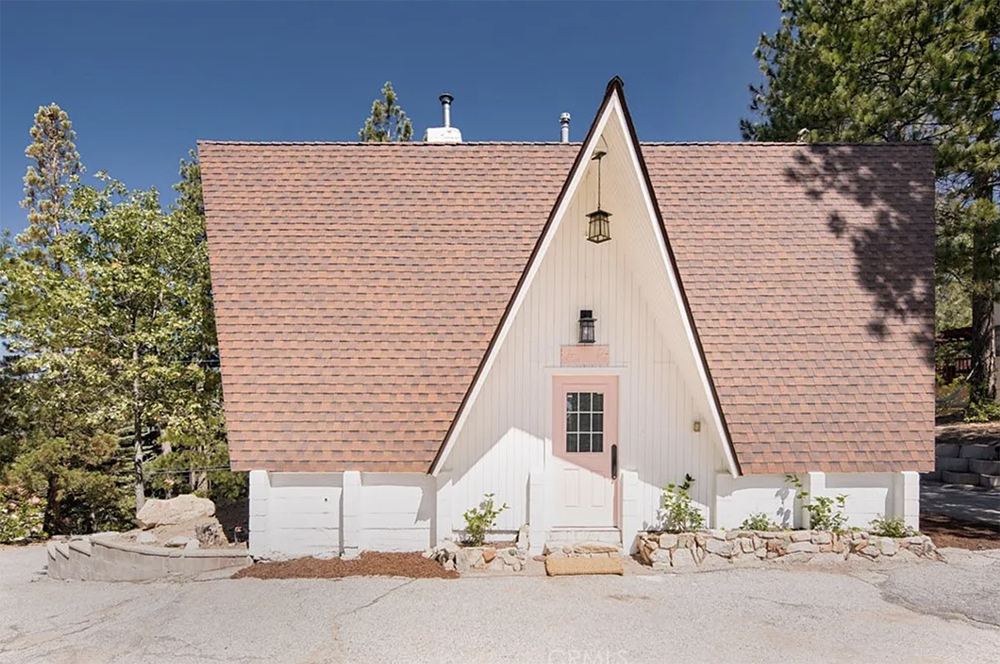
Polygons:
<instances>
[{"instance_id":1,"label":"reddish-brown mulch strip before the white wall left of the door","mask_svg":"<svg viewBox=\"0 0 1000 664\"><path fill-rule=\"evenodd\" d=\"M420 553L366 551L354 560L296 558L255 563L233 574L234 579L340 579L345 576L403 576L411 579L457 579L436 560Z\"/></svg>"}]
</instances>

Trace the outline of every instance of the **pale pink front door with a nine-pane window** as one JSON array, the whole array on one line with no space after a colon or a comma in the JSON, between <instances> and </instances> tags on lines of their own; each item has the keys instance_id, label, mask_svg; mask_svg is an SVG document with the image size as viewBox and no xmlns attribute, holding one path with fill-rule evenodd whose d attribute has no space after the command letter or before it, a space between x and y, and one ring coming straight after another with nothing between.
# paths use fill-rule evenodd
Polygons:
<instances>
[{"instance_id":1,"label":"pale pink front door with a nine-pane window","mask_svg":"<svg viewBox=\"0 0 1000 664\"><path fill-rule=\"evenodd\" d=\"M615 526L618 376L555 376L552 382L553 525Z\"/></svg>"}]
</instances>

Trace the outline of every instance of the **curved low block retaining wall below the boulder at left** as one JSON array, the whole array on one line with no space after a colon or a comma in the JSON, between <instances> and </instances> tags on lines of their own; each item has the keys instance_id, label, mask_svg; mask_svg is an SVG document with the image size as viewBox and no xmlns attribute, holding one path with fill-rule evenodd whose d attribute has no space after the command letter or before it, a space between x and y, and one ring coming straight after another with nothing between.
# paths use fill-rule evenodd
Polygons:
<instances>
[{"instance_id":1,"label":"curved low block retaining wall below the boulder at left","mask_svg":"<svg viewBox=\"0 0 1000 664\"><path fill-rule=\"evenodd\" d=\"M168 549L118 541L117 535L94 535L50 542L48 575L79 581L152 581L190 578L250 562L242 549Z\"/></svg>"}]
</instances>

